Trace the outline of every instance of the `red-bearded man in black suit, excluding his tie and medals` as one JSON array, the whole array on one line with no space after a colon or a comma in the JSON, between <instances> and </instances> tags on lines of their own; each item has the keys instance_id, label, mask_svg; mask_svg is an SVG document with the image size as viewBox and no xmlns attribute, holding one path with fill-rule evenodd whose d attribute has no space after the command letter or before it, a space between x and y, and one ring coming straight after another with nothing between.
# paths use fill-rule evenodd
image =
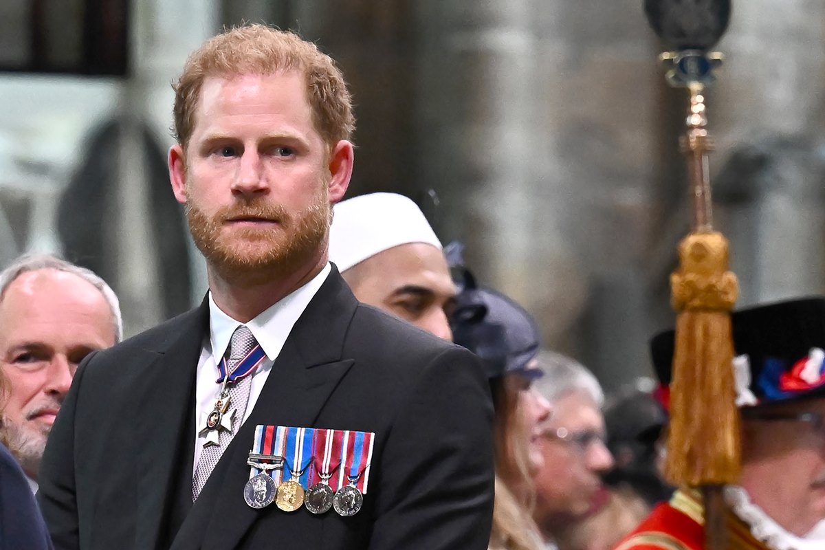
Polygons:
<instances>
[{"instance_id":1,"label":"red-bearded man in black suit, excluding his tie and medals","mask_svg":"<svg viewBox=\"0 0 825 550\"><path fill-rule=\"evenodd\" d=\"M210 293L78 369L40 474L55 546L487 548L492 406L480 365L357 303L327 260L354 124L332 59L247 26L206 42L175 90L172 190ZM200 459L215 448L196 419L219 390L216 361L247 329L266 360L243 379L248 397L233 402L243 425L221 434L220 448L231 443L202 485ZM375 432L364 508L247 506L256 425Z\"/></svg>"}]
</instances>

